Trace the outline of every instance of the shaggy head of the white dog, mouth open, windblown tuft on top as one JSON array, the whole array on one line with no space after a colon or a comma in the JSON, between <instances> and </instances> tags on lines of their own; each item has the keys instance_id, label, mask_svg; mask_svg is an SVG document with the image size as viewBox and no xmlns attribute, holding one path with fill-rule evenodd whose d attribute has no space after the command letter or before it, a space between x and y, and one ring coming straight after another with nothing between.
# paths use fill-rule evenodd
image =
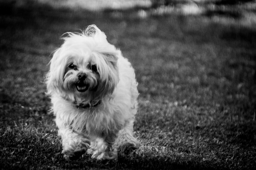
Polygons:
<instances>
[{"instance_id":1,"label":"shaggy head of the white dog, mouth open, windblown tuft on top","mask_svg":"<svg viewBox=\"0 0 256 170\"><path fill-rule=\"evenodd\" d=\"M112 94L119 81L120 51L105 34L92 26L84 34L69 33L64 40L51 60L48 93L75 104L90 104Z\"/></svg>"}]
</instances>

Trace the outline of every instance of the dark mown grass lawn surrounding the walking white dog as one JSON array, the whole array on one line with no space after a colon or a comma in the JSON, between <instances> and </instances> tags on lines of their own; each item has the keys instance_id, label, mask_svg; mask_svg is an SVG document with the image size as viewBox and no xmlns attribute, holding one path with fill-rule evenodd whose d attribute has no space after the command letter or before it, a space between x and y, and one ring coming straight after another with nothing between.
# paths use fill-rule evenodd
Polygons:
<instances>
[{"instance_id":1,"label":"dark mown grass lawn surrounding the walking white dog","mask_svg":"<svg viewBox=\"0 0 256 170\"><path fill-rule=\"evenodd\" d=\"M33 7L33 8L32 8ZM85 12L0 4L2 169L256 167L256 32L207 16ZM140 149L118 161L66 161L44 75L64 32L96 24L136 70Z\"/></svg>"}]
</instances>

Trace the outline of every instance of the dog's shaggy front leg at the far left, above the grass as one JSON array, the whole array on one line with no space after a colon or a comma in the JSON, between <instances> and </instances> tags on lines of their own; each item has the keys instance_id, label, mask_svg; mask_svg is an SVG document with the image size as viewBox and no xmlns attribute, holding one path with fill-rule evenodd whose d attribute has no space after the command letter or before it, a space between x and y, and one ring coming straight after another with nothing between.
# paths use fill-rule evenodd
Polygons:
<instances>
[{"instance_id":1,"label":"dog's shaggy front leg at the far left, above the grass","mask_svg":"<svg viewBox=\"0 0 256 170\"><path fill-rule=\"evenodd\" d=\"M62 140L64 158L75 160L86 153L90 140L86 135L77 133L70 127L59 127L58 135Z\"/></svg>"}]
</instances>

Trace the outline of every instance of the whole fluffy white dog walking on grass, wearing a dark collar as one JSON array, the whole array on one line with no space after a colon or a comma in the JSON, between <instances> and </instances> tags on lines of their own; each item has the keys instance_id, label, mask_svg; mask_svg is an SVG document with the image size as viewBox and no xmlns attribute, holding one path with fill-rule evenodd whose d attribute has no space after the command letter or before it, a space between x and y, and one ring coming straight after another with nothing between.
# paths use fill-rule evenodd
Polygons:
<instances>
[{"instance_id":1,"label":"whole fluffy white dog walking on grass, wearing a dark collar","mask_svg":"<svg viewBox=\"0 0 256 170\"><path fill-rule=\"evenodd\" d=\"M47 74L64 157L116 159L139 147L133 136L137 81L131 63L95 25L68 33Z\"/></svg>"}]
</instances>

